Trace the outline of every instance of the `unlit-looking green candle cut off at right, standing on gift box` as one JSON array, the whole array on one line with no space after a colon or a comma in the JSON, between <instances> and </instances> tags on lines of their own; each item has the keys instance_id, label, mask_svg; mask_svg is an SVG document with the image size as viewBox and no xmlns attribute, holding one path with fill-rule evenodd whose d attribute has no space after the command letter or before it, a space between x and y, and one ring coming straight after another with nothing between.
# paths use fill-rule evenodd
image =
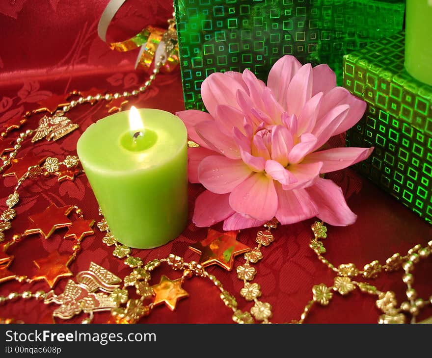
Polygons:
<instances>
[{"instance_id":1,"label":"unlit-looking green candle cut off at right, standing on gift box","mask_svg":"<svg viewBox=\"0 0 432 358\"><path fill-rule=\"evenodd\" d=\"M406 0L405 69L432 85L432 0Z\"/></svg>"}]
</instances>

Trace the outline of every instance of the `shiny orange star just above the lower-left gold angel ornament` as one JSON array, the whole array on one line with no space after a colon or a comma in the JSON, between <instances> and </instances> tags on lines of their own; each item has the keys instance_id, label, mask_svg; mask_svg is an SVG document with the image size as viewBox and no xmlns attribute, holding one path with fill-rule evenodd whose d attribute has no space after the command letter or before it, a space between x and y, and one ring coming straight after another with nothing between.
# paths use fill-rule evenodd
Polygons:
<instances>
[{"instance_id":1,"label":"shiny orange star just above the lower-left gold angel ornament","mask_svg":"<svg viewBox=\"0 0 432 358\"><path fill-rule=\"evenodd\" d=\"M68 255L60 255L57 250L54 250L45 258L33 260L37 267L37 274L31 278L31 281L45 280L53 288L61 278L73 276L67 267L69 258Z\"/></svg>"}]
</instances>

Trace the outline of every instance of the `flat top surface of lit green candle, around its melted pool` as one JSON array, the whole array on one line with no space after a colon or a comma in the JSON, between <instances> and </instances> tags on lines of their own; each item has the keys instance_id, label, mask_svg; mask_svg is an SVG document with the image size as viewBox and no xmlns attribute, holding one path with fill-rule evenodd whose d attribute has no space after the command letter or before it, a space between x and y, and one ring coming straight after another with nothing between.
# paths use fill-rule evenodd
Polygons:
<instances>
[{"instance_id":1,"label":"flat top surface of lit green candle, around its melted pool","mask_svg":"<svg viewBox=\"0 0 432 358\"><path fill-rule=\"evenodd\" d=\"M137 109L143 118L144 128L158 134L154 146L142 152L131 152L121 146L120 138L130 132L130 110L125 110L101 118L85 129L77 142L81 162L111 175L125 171L139 172L157 169L187 148L187 130L179 117L160 109Z\"/></svg>"}]
</instances>

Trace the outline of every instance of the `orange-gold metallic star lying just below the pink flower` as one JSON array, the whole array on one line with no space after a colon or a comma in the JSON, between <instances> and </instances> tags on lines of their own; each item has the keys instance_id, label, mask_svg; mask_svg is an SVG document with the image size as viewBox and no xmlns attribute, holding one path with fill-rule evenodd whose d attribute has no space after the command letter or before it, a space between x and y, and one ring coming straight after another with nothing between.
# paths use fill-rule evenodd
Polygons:
<instances>
[{"instance_id":1,"label":"orange-gold metallic star lying just below the pink flower","mask_svg":"<svg viewBox=\"0 0 432 358\"><path fill-rule=\"evenodd\" d=\"M189 249L201 254L201 265L219 265L225 270L231 271L234 265L234 256L243 254L250 248L237 241L238 231L219 232L209 229L207 238L189 246Z\"/></svg>"}]
</instances>

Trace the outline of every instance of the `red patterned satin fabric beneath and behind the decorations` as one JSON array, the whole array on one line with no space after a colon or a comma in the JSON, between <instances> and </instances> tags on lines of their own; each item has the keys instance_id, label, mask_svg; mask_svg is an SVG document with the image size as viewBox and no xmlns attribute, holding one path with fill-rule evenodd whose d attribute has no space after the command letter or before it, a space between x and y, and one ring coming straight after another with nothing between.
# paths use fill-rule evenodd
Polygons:
<instances>
[{"instance_id":1,"label":"red patterned satin fabric beneath and behind the decorations","mask_svg":"<svg viewBox=\"0 0 432 358\"><path fill-rule=\"evenodd\" d=\"M97 37L97 23L108 0L66 1L66 0L6 0L0 3L0 124L15 115L36 108L37 101L51 94L63 94L73 89L88 90L98 87L103 90L122 92L132 90L147 79L147 74L133 69L136 51L118 53L110 51ZM138 1L128 0L119 16L108 30L108 37L122 40L146 25L165 26L172 12L170 0ZM135 104L138 107L160 108L170 112L184 109L179 69L169 75L160 75L154 85L141 94ZM76 142L91 123L107 115L105 102L94 106L81 105L70 112L69 118L80 128L57 142L41 141L35 145L26 142L18 156L27 153L57 156L76 154ZM36 128L39 116L30 118L24 129ZM17 132L14 132L16 134ZM11 137L14 137L12 135ZM328 227L326 257L336 265L354 262L358 267L378 259L385 259L395 252L405 254L415 244L425 244L431 239L431 226L405 206L382 192L367 179L352 170L344 170L331 176L342 186L351 209L358 214L357 222L347 228ZM0 178L0 208L5 208L5 199L16 184L14 178ZM194 198L202 188L190 185L190 212ZM28 225L27 217L44 210L50 202L56 205L79 205L84 218L98 221L97 203L85 175L75 181L58 183L56 178L26 181L20 189L20 203L16 207L17 217L12 229L6 231L6 239L13 233L23 232ZM331 285L333 274L309 249L313 220L275 230L276 240L263 248L264 258L256 265L258 274L254 282L262 286L262 301L273 307L272 321L290 322L298 319L302 308L312 297L311 288L321 282ZM95 226L96 227L96 226ZM216 226L216 229L220 227ZM31 276L34 273L33 259L45 257L57 249L60 253L71 253L71 240L62 239L66 229L45 240L32 235L11 250L15 260L10 270ZM206 229L193 224L176 240L153 250L134 250L133 255L145 261L165 257L169 253L196 260L198 255L188 249L189 244L203 239ZM239 239L253 247L257 229L242 230ZM103 233L84 239L83 251L70 266L72 272L88 268L90 261L106 267L121 278L130 270L123 262L111 255L112 248L102 243ZM243 263L239 256L236 265ZM431 294L431 260L422 262L415 270L415 288L427 299ZM216 275L224 287L233 293L239 307L251 306L240 297L242 281L236 273L213 266L208 271ZM169 269L158 269L153 282L160 274L170 278L180 276ZM402 273L384 275L375 281L380 290L393 290L398 302L405 298ZM67 279L60 281L55 292L62 292ZM209 281L194 278L185 283L190 297L179 302L175 312L166 307L157 307L142 323L231 323L231 313L218 298L219 291ZM49 290L44 282L21 285L10 281L0 285L0 295L12 290L19 292L30 289ZM45 321L56 305L45 306L41 302L17 301L0 307L0 317L13 317L26 323ZM420 316L431 315L426 309ZM328 307L314 308L307 319L310 323L375 323L378 309L372 297L353 292L342 298L335 295ZM82 316L66 322L80 322ZM96 314L95 322L103 323L108 313ZM63 323L61 320L57 322Z\"/></svg>"}]
</instances>

